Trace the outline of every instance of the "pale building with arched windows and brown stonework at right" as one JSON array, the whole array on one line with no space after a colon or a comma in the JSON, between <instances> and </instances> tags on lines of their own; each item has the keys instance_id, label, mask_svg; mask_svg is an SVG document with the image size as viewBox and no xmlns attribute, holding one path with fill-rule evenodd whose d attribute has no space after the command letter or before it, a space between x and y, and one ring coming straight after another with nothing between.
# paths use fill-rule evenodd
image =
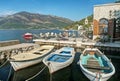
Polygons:
<instances>
[{"instance_id":1,"label":"pale building with arched windows and brown stonework at right","mask_svg":"<svg viewBox=\"0 0 120 81\"><path fill-rule=\"evenodd\" d=\"M93 39L120 41L120 3L95 5L93 27Z\"/></svg>"}]
</instances>

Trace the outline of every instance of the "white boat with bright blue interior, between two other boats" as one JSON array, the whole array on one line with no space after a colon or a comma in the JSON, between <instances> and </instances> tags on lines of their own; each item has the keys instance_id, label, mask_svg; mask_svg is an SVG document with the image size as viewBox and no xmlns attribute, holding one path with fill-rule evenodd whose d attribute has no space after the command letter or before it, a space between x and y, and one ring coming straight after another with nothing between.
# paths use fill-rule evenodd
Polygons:
<instances>
[{"instance_id":1,"label":"white boat with bright blue interior, between two other boats","mask_svg":"<svg viewBox=\"0 0 120 81\"><path fill-rule=\"evenodd\" d=\"M43 63L49 68L52 74L60 69L69 66L74 59L75 51L71 47L63 47L43 59Z\"/></svg>"}]
</instances>

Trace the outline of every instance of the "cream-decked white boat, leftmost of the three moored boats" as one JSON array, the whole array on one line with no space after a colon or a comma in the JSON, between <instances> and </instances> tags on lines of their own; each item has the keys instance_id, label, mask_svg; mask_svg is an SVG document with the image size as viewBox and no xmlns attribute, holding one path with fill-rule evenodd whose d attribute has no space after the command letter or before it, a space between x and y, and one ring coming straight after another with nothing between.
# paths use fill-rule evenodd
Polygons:
<instances>
[{"instance_id":1,"label":"cream-decked white boat, leftmost of the three moored boats","mask_svg":"<svg viewBox=\"0 0 120 81\"><path fill-rule=\"evenodd\" d=\"M19 69L40 63L45 56L52 52L53 49L54 46L43 45L29 52L14 55L9 58L9 61L14 70L17 71Z\"/></svg>"}]
</instances>

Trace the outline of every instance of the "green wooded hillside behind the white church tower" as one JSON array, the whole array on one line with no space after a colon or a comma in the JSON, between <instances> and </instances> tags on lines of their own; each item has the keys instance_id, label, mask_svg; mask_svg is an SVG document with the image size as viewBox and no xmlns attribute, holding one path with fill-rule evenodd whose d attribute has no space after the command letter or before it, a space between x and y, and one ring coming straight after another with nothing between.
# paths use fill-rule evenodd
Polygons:
<instances>
[{"instance_id":1,"label":"green wooded hillside behind the white church tower","mask_svg":"<svg viewBox=\"0 0 120 81\"><path fill-rule=\"evenodd\" d=\"M88 24L87 25L84 24L85 19L86 18L83 18L80 21L76 21L76 22L72 23L71 25L66 26L65 29L75 29L75 30L77 30L78 25L82 25L84 27L84 29L86 27L90 27L92 22L93 22L93 15L90 15L90 16L87 17L87 19L88 19Z\"/></svg>"}]
</instances>

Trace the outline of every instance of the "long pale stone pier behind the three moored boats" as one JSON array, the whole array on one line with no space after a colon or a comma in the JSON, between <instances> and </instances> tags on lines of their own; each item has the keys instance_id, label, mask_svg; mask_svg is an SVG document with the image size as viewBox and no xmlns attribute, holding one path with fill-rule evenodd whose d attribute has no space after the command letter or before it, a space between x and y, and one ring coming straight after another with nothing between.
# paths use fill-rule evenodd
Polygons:
<instances>
[{"instance_id":1,"label":"long pale stone pier behind the three moored boats","mask_svg":"<svg viewBox=\"0 0 120 81\"><path fill-rule=\"evenodd\" d=\"M101 42L95 42L95 41L82 41L80 38L74 38L74 40L55 40L55 39L34 39L33 40L35 44L50 44L55 45L57 48L62 46L71 46L79 50L83 50L86 47L97 47L101 50L110 50L110 51L118 51L120 52L120 43L101 43Z\"/></svg>"}]
</instances>

